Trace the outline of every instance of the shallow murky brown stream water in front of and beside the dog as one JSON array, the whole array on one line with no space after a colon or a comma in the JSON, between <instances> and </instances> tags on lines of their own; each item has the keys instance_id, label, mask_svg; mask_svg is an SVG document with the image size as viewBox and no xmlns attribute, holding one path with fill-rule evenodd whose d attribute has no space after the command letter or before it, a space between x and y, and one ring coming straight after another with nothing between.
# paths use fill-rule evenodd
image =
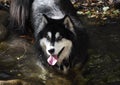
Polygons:
<instances>
[{"instance_id":1,"label":"shallow murky brown stream water in front of and beside the dog","mask_svg":"<svg viewBox=\"0 0 120 85\"><path fill-rule=\"evenodd\" d=\"M85 28L89 60L68 75L39 68L36 51L25 39L11 35L0 42L0 85L119 85L120 22Z\"/></svg>"}]
</instances>

